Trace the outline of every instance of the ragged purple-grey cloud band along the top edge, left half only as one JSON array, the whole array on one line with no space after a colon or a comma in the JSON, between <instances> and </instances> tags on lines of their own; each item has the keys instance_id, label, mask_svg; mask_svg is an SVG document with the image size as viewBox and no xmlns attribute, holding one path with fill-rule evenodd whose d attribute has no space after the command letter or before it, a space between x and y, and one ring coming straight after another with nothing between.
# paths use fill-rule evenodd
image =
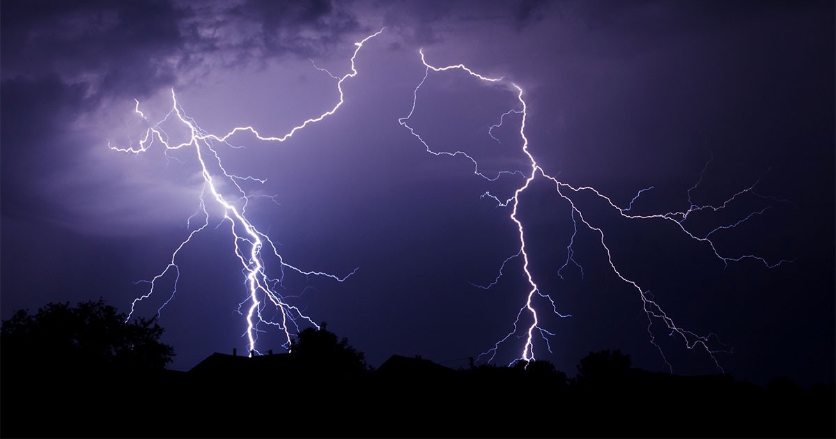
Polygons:
<instances>
[{"instance_id":1,"label":"ragged purple-grey cloud band along the top edge, left half only","mask_svg":"<svg viewBox=\"0 0 836 439\"><path fill-rule=\"evenodd\" d=\"M3 2L3 79L58 74L141 97L215 67L310 54L358 28L329 2Z\"/></svg>"}]
</instances>

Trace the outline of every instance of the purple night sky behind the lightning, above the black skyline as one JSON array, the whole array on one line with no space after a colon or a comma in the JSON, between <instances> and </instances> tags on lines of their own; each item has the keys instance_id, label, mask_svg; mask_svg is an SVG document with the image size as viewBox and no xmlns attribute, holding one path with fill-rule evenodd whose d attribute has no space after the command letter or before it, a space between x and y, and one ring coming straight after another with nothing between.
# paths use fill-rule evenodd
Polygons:
<instances>
[{"instance_id":1,"label":"purple night sky behind the lightning, above the black skyline","mask_svg":"<svg viewBox=\"0 0 836 439\"><path fill-rule=\"evenodd\" d=\"M543 171L594 186L630 213L680 212L675 222L627 220L599 197L573 202L606 234L615 265L682 328L711 336L726 372L764 382L787 375L832 381L834 283L833 2L38 2L3 0L2 277L0 314L48 302L104 298L123 311L148 292L189 235L202 180L194 150L112 151L136 146L147 123L171 109L171 88L201 128L225 134L252 125L283 135L339 101L344 105L285 142L239 134L218 145L227 170L254 197L253 225L287 263L344 276L288 273L282 294L316 322L348 337L380 365L392 354L461 367L512 331L528 284L506 199L523 177L487 181L463 156L434 156L398 122L410 114L426 61L466 64L433 73L409 125L434 151L466 151L480 171L524 171L528 148ZM312 63L313 61L313 63ZM314 66L315 64L315 66ZM182 125L166 125L172 138ZM178 127L179 126L179 127ZM235 148L231 147L235 146ZM242 148L238 148L242 146ZM706 163L708 164L706 166ZM703 172L703 169L705 171ZM228 189L228 187L226 188ZM764 210L766 209L766 210ZM172 368L212 352L247 350L247 299L229 227L207 207L210 227L178 253L176 295L162 310ZM548 336L537 358L573 375L589 351L620 349L635 366L716 373L705 350L656 324L640 294L607 263L598 232L579 224L552 182L520 196L529 270L556 309L538 299ZM577 218L577 214L574 216ZM219 224L221 224L219 226ZM217 227L219 226L219 227ZM573 263L567 246L573 239ZM173 278L140 303L150 317ZM269 309L268 309L269 310ZM524 320L524 319L523 319ZM527 322L528 320L526 320ZM524 325L527 325L525 323ZM262 325L262 350L281 351ZM517 332L494 359L520 355ZM37 348L37 347L36 347ZM485 360L485 357L482 357Z\"/></svg>"}]
</instances>

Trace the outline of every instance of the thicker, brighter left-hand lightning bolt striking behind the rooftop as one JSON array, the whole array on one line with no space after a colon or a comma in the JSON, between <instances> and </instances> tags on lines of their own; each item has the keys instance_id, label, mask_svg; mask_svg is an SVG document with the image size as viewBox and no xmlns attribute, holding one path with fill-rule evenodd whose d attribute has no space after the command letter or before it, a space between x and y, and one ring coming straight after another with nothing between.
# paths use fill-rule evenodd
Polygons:
<instances>
[{"instance_id":1,"label":"thicker, brighter left-hand lightning bolt striking behind the rooftop","mask_svg":"<svg viewBox=\"0 0 836 439\"><path fill-rule=\"evenodd\" d=\"M202 130L201 127L196 124L195 120L186 115L181 105L177 102L177 96L174 89L171 89L171 110L168 111L162 120L155 123L151 123L150 120L145 117L145 114L140 111L140 102L136 101L135 113L148 122L150 127L145 130L145 136L140 140L138 147L129 146L127 148L120 148L115 145L110 145L109 143L108 146L110 149L125 153L140 154L147 151L155 141L159 142L162 147L165 148L166 154L168 151L193 148L196 160L200 164L203 185L198 210L194 215L189 217L187 221L187 224L191 228L191 222L195 219L199 219L201 220L200 227L196 227L191 230L186 239L183 240L179 246L177 246L173 253L171 253L171 259L161 273L158 273L150 280L140 281L140 283L150 284L150 288L146 294L134 299L134 301L130 304L130 313L128 314L127 319L130 320L131 316L135 312L136 305L140 303L140 301L148 299L152 294L154 294L157 282L169 273L173 273L174 286L171 289L169 298L159 309L157 309L157 314L160 314L162 309L166 307L166 304L171 302L171 299L174 298L177 291L177 281L180 278L180 268L177 266L177 255L180 253L182 248L185 248L186 245L191 242L192 237L195 237L196 234L209 226L209 213L206 211L206 204L214 202L218 207L221 207L223 211L223 220L221 224L223 222L228 222L228 227L232 235L232 241L235 246L235 255L241 263L242 273L245 278L244 283L247 286L247 299L239 304L238 312L240 314L245 314L242 312L242 308L246 307L247 329L245 334L247 336L247 345L250 352L256 354L258 353L256 342L258 332L261 330L258 328L259 324L278 326L278 328L284 333L284 337L287 340L285 346L288 347L288 349L293 334L298 333L298 319L302 319L308 324L313 324L315 327L319 328L319 325L316 324L313 319L310 319L307 315L303 314L302 310L298 309L298 307L293 304L288 303L288 296L279 294L277 286L282 286L285 270L291 270L306 276L324 276L333 278L338 282L343 282L346 278L349 278L349 276L354 274L357 271L357 268L354 268L354 271L351 273L344 274L343 276L337 276L320 271L303 270L302 268L298 268L286 262L282 255L278 253L278 249L270 237L268 237L265 232L259 231L257 227L255 227L247 218L247 205L254 196L247 195L247 192L244 191L238 184L238 181L243 180L259 181L261 183L264 183L265 180L253 176L237 176L229 173L224 168L221 157L217 154L216 144L227 145L234 148L235 146L230 145L228 140L232 137L232 135L236 135L237 133L243 131L248 131L258 140L283 142L291 138L298 130L303 130L308 125L319 122L329 115L333 115L344 102L344 81L346 79L354 78L358 74L357 69L354 67L354 59L356 59L360 49L363 48L363 44L371 38L375 38L380 35L381 32L383 32L383 29L380 29L380 31L363 38L358 43L354 43L356 48L354 48L354 54L351 56L350 72L348 74L344 74L342 77L336 77L329 71L320 69L314 64L314 68L329 74L334 79L337 79L339 101L333 108L331 108L331 110L325 111L315 118L304 120L301 124L294 126L292 130L288 131L284 135L264 136L252 126L236 127L227 132L225 135L210 134L205 130ZM168 135L161 127L161 125L171 119L172 116L176 118L177 122L184 125L189 133L191 133L188 140L176 145L169 143ZM237 191L237 199L231 199L222 195L221 191L218 190L218 187L222 182L232 184L232 187L234 187L235 191ZM278 278L273 278L268 274L268 261L263 257L263 254L265 254L263 252L266 252L268 256L272 255L272 257L278 258L278 270L280 273ZM266 319L263 317L263 309L268 305L268 303L273 304L273 306L278 309L277 319Z\"/></svg>"}]
</instances>

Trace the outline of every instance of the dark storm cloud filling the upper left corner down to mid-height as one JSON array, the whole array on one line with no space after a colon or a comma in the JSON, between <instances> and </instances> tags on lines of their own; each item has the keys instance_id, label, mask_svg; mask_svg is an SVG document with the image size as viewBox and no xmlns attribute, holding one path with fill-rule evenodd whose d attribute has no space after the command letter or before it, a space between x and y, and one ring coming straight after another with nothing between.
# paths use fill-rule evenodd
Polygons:
<instances>
[{"instance_id":1,"label":"dark storm cloud filling the upper left corner down to mid-height","mask_svg":"<svg viewBox=\"0 0 836 439\"><path fill-rule=\"evenodd\" d=\"M217 69L327 51L358 27L322 1L10 0L0 8L4 216L40 217L66 202L69 189L46 188L61 186L55 172L78 181L74 166L104 141L79 134L75 122L90 130L90 120L124 112L125 102Z\"/></svg>"}]
</instances>

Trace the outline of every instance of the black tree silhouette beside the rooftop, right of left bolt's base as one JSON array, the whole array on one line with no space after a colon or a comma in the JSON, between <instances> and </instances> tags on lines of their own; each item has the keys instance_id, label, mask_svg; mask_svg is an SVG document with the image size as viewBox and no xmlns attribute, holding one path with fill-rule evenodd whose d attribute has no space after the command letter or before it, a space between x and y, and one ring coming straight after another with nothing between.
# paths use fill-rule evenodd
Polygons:
<instances>
[{"instance_id":1,"label":"black tree silhouette beside the rooftop, right of left bolt's base","mask_svg":"<svg viewBox=\"0 0 836 439\"><path fill-rule=\"evenodd\" d=\"M349 339L339 339L325 329L304 329L292 340L290 355L297 357L308 371L340 377L360 376L370 370L365 355L349 345Z\"/></svg>"}]
</instances>

